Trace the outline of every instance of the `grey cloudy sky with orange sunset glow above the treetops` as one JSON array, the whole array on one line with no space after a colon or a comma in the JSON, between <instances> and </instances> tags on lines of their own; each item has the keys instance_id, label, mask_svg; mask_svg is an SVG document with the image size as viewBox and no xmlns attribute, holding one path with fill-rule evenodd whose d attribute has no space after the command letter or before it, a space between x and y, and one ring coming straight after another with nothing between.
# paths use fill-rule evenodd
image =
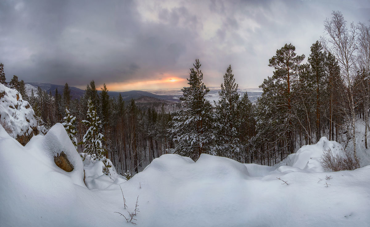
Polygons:
<instances>
[{"instance_id":1,"label":"grey cloudy sky with orange sunset glow above the treetops","mask_svg":"<svg viewBox=\"0 0 370 227\"><path fill-rule=\"evenodd\" d=\"M231 64L240 87L258 88L285 43L309 55L332 10L370 19L368 0L0 0L0 62L8 80L124 91L184 87L199 58L206 85Z\"/></svg>"}]
</instances>

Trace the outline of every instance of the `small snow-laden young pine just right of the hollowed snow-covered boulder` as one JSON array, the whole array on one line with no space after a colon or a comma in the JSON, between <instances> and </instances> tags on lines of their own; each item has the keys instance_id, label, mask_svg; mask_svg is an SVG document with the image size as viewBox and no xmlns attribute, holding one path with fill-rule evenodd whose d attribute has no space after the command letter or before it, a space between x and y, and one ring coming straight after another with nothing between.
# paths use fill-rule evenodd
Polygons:
<instances>
[{"instance_id":1,"label":"small snow-laden young pine just right of the hollowed snow-covered boulder","mask_svg":"<svg viewBox=\"0 0 370 227\"><path fill-rule=\"evenodd\" d=\"M97 115L94 104L91 99L88 100L87 120L82 122L88 127L87 132L83 137L82 144L84 145L84 153L91 155L92 160L102 160L104 167L102 172L105 175L110 175L109 168L112 167L106 157L104 156L105 150L102 146L104 135L100 133L101 121Z\"/></svg>"}]
</instances>

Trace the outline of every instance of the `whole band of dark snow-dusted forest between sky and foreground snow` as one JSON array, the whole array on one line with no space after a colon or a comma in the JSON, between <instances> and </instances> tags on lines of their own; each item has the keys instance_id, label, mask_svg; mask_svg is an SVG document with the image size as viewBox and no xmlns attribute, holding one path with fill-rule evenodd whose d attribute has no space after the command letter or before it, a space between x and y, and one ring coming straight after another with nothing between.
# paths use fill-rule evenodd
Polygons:
<instances>
[{"instance_id":1,"label":"whole band of dark snow-dusted forest between sky and foreground snow","mask_svg":"<svg viewBox=\"0 0 370 227\"><path fill-rule=\"evenodd\" d=\"M333 11L324 27L323 35L311 44L309 56L289 43L266 60L271 75L259 86L263 93L255 105L246 92L238 94L231 65L223 75L219 102L206 100L209 89L198 59L189 70L176 111L165 111L164 105L138 107L134 99L125 102L121 95L110 98L108 88L97 88L94 81L80 99L71 98L67 83L54 94L38 88L28 96L24 81L14 75L9 87L30 102L39 125L48 129L65 122L78 152L99 153L122 173L137 173L166 153L193 160L207 153L272 166L322 136L349 143L356 136L357 121L364 122L365 135L370 129L369 24L348 24L342 13ZM302 64L304 60L307 63ZM3 64L1 83L6 84ZM100 135L99 144L86 140L90 131ZM364 140L367 148L367 136Z\"/></svg>"}]
</instances>

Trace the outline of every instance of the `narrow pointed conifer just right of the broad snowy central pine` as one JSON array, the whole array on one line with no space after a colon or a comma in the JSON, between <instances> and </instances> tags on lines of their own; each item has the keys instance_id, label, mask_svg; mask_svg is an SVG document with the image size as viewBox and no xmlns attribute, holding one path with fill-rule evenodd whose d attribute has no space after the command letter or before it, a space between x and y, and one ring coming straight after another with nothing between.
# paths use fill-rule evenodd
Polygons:
<instances>
[{"instance_id":1,"label":"narrow pointed conifer just right of the broad snowy central pine","mask_svg":"<svg viewBox=\"0 0 370 227\"><path fill-rule=\"evenodd\" d=\"M235 83L231 65L223 76L223 84L221 84L221 91L218 94L220 98L218 104L216 104L219 127L216 136L217 155L240 160L240 144L237 132L240 127L240 119L238 118L239 94L238 84Z\"/></svg>"}]
</instances>

